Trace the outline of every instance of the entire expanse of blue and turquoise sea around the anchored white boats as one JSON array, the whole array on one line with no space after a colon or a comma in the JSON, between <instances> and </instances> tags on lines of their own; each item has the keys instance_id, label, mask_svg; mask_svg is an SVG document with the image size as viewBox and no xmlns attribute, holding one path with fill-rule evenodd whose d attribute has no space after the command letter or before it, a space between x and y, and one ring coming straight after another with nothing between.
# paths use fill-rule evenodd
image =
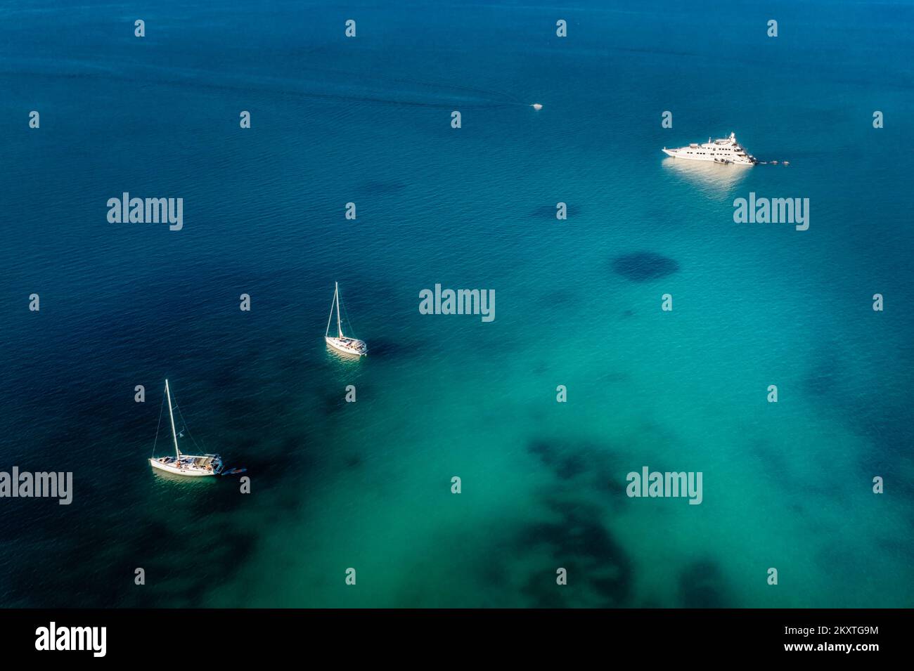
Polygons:
<instances>
[{"instance_id":1,"label":"entire expanse of blue and turquoise sea around the anchored white boats","mask_svg":"<svg viewBox=\"0 0 914 671\"><path fill-rule=\"evenodd\" d=\"M4 13L0 467L75 493L0 499L0 604L910 605L910 5ZM659 151L729 131L791 165ZM123 191L185 228L109 224ZM752 191L810 229L734 224ZM250 494L150 473L165 376ZM643 466L703 503L627 498Z\"/></svg>"}]
</instances>

